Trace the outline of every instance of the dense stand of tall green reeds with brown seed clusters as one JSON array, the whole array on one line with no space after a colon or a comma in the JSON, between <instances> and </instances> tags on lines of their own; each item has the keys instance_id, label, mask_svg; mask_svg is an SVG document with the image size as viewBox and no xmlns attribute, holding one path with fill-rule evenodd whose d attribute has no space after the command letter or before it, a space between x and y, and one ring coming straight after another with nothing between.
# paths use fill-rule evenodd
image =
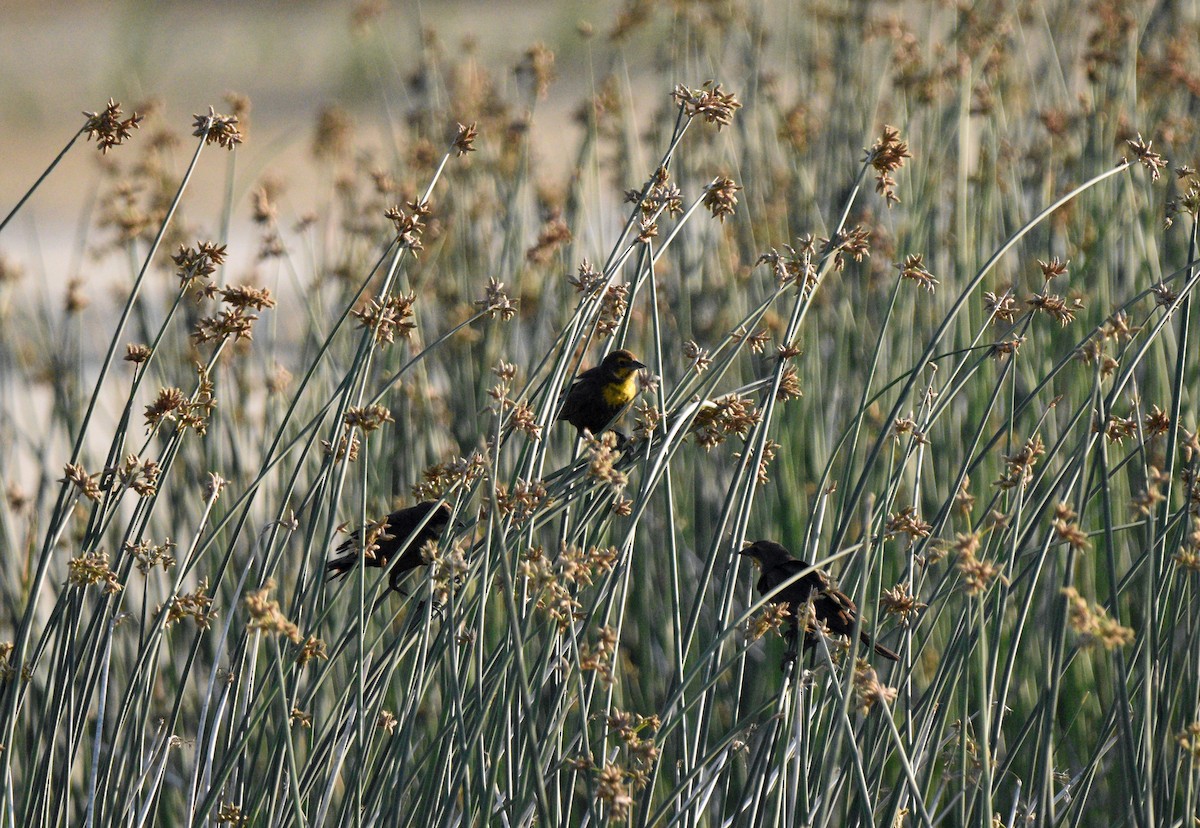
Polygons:
<instances>
[{"instance_id":1,"label":"dense stand of tall green reeds with brown seed clusters","mask_svg":"<svg viewBox=\"0 0 1200 828\"><path fill-rule=\"evenodd\" d=\"M310 217L238 100L112 142L121 300L0 284L4 824L1200 816L1194 13L890 8L630 5L572 148L548 50L426 36L386 138L323 114ZM619 454L554 421L617 347ZM418 499L404 594L325 577ZM901 661L781 668L757 538Z\"/></svg>"}]
</instances>

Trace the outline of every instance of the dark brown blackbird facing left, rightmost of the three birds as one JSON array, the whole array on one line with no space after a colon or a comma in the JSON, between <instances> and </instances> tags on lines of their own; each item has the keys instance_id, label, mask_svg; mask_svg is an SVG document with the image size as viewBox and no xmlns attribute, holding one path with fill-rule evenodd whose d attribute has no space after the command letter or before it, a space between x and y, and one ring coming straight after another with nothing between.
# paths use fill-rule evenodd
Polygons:
<instances>
[{"instance_id":1,"label":"dark brown blackbird facing left, rightmost of the three birds","mask_svg":"<svg viewBox=\"0 0 1200 828\"><path fill-rule=\"evenodd\" d=\"M797 560L786 548L770 540L755 541L750 546L742 550L742 554L751 557L762 570L762 577L758 578L760 595L766 595L779 584L796 575L799 575L809 568L806 563ZM824 623L830 631L839 635L851 636L854 634L854 624L858 619L858 607L854 606L854 602L850 600L848 595L841 590L834 589L829 584L829 578L827 578L823 572L814 570L808 575L792 581L792 583L785 587L781 592L775 593L774 600L786 601L788 604L787 641L790 647L787 655L785 656L787 660L793 660L796 658L796 613L804 606L805 602L808 602L810 596L812 598L812 608L816 613L817 623ZM890 659L892 661L900 660L899 655L889 650L883 644L876 644L872 642L871 636L865 632L859 632L859 640L864 646L874 647L875 652L884 659ZM817 638L815 632L809 630L804 631L805 649L812 647L816 641Z\"/></svg>"}]
</instances>

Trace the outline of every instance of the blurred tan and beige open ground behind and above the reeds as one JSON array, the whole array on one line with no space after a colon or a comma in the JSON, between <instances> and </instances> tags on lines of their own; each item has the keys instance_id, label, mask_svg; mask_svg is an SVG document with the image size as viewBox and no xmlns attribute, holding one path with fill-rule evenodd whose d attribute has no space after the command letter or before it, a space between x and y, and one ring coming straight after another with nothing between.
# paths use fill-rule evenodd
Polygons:
<instances>
[{"instance_id":1,"label":"blurred tan and beige open ground behind and above the reeds","mask_svg":"<svg viewBox=\"0 0 1200 828\"><path fill-rule=\"evenodd\" d=\"M570 115L594 80L592 38L581 32L611 26L622 6L606 0L6 2L0 7L0 212L32 185L79 127L82 113L101 109L109 97L126 113L151 110L143 130L186 137L194 114L209 106L227 113L226 96L233 92L251 104L242 119L235 198L245 206L251 186L270 173L296 185L283 203L300 215L319 200L310 151L318 113L346 112L355 144L391 143L392 119L420 106L409 80L425 36L434 32L451 58L469 54L490 67L503 96L517 83L504 67L515 67L535 43L554 53L556 80L529 130L535 146L552 150L538 152L538 164L559 175L571 156L553 150L563 146L564 130L582 133ZM630 83L644 83L650 64L624 70ZM671 84L659 85L655 95L666 96ZM146 139L144 131L138 139ZM92 206L80 191L96 186L103 161L80 148L68 152L6 229L0 250L52 284L65 284L70 244L44 242L78 235L80 214ZM216 154L205 163L216 164ZM222 188L222 176L197 175L187 196L191 210L216 210Z\"/></svg>"}]
</instances>

